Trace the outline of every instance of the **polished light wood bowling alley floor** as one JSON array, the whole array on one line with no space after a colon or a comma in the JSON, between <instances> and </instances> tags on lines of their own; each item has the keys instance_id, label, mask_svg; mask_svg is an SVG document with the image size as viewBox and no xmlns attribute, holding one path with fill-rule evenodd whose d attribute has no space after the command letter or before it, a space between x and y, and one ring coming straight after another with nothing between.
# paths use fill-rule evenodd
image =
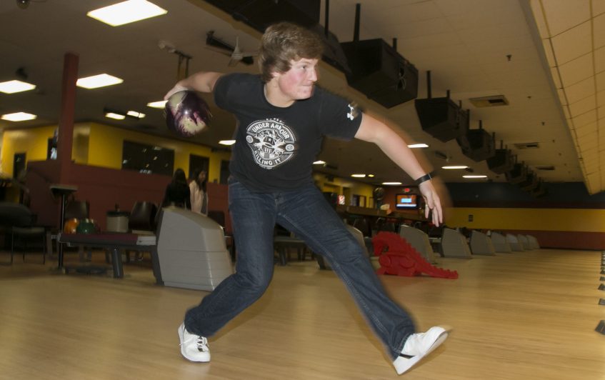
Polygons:
<instances>
[{"instance_id":1,"label":"polished light wood bowling alley floor","mask_svg":"<svg viewBox=\"0 0 605 380\"><path fill-rule=\"evenodd\" d=\"M6 252L0 260L6 261ZM0 379L394 379L344 286L313 261L277 266L269 291L210 340L210 364L176 329L203 291L59 274L17 256L0 266ZM67 261L77 261L70 254ZM94 261L102 262L101 252ZM381 276L419 329L454 331L404 379L605 379L601 252L540 249L439 259L459 279Z\"/></svg>"}]
</instances>

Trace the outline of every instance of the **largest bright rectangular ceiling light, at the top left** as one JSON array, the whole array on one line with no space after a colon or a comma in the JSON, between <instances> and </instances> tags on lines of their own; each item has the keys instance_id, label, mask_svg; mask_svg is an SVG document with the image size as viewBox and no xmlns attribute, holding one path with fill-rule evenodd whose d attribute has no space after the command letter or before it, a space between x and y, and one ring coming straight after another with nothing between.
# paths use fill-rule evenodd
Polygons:
<instances>
[{"instance_id":1,"label":"largest bright rectangular ceiling light, at the top left","mask_svg":"<svg viewBox=\"0 0 605 380\"><path fill-rule=\"evenodd\" d=\"M111 26L120 26L134 21L166 14L168 11L146 0L128 0L89 11L86 16Z\"/></svg>"}]
</instances>

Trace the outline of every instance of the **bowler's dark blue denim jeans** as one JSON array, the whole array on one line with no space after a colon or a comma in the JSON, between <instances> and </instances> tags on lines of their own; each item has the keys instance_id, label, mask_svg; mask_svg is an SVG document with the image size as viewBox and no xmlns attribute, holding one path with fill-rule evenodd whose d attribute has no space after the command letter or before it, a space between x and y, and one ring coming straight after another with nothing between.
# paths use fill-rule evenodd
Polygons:
<instances>
[{"instance_id":1,"label":"bowler's dark blue denim jeans","mask_svg":"<svg viewBox=\"0 0 605 380\"><path fill-rule=\"evenodd\" d=\"M236 273L186 312L188 331L212 336L264 294L273 276L274 226L279 223L330 262L391 358L399 355L414 334L414 322L386 295L359 242L316 186L254 193L231 179L229 210L237 247Z\"/></svg>"}]
</instances>

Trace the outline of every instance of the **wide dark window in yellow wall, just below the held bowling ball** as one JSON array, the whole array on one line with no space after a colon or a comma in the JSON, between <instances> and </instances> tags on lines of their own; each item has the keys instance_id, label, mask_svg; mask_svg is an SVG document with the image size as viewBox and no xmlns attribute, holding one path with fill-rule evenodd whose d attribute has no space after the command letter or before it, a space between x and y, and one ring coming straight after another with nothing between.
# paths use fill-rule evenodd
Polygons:
<instances>
[{"instance_id":1,"label":"wide dark window in yellow wall, just below the held bowling ball","mask_svg":"<svg viewBox=\"0 0 605 380\"><path fill-rule=\"evenodd\" d=\"M136 170L144 174L172 176L174 150L124 140L122 169Z\"/></svg>"}]
</instances>

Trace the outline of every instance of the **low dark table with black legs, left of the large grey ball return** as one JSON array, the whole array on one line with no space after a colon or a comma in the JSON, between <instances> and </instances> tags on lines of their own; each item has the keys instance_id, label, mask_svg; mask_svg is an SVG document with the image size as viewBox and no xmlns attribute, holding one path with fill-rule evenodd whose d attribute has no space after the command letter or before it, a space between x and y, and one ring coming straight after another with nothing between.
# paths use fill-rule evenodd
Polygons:
<instances>
[{"instance_id":1,"label":"low dark table with black legs, left of the large grey ball return","mask_svg":"<svg viewBox=\"0 0 605 380\"><path fill-rule=\"evenodd\" d=\"M106 248L111 250L111 266L114 271L114 279L124 278L124 266L120 249L132 251L151 251L151 266L156 277L156 284L164 284L159 269L158 251L155 235L125 234L120 232L106 232L101 234L62 234L57 236L59 244L81 244ZM67 274L69 269L66 268Z\"/></svg>"}]
</instances>

